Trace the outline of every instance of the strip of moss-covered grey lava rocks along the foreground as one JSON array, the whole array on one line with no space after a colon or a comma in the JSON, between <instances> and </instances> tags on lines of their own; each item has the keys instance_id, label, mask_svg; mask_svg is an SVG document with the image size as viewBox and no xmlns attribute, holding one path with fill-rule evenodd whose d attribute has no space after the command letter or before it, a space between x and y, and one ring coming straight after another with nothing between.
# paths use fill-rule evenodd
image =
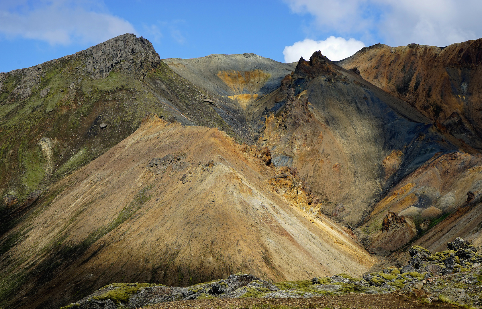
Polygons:
<instances>
[{"instance_id":1,"label":"strip of moss-covered grey lava rocks along the foreground","mask_svg":"<svg viewBox=\"0 0 482 309\"><path fill-rule=\"evenodd\" d=\"M237 273L227 279L172 287L154 283L113 283L61 309L140 308L146 305L194 299L308 298L347 294L411 295L423 303L442 301L482 308L482 255L457 237L447 250L432 254L420 246L409 250L409 265L388 267L352 278L341 273L311 281L269 283L251 274Z\"/></svg>"}]
</instances>

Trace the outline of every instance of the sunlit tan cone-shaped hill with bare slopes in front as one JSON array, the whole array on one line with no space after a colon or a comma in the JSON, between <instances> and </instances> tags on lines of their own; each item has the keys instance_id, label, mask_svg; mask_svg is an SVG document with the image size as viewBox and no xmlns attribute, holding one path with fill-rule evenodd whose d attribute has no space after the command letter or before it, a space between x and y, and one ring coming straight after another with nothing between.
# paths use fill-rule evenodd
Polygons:
<instances>
[{"instance_id":1,"label":"sunlit tan cone-shaped hill with bare slopes in front","mask_svg":"<svg viewBox=\"0 0 482 309\"><path fill-rule=\"evenodd\" d=\"M187 286L240 271L280 281L373 266L343 229L268 185L276 168L238 149L218 129L148 120L4 237L2 298L54 308L111 282Z\"/></svg>"}]
</instances>

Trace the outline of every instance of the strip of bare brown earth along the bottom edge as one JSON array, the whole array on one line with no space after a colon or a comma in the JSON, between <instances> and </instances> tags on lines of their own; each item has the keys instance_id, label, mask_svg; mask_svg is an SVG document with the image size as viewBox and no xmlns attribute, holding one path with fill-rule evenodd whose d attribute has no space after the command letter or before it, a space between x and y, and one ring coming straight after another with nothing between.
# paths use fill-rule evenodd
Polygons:
<instances>
[{"instance_id":1,"label":"strip of bare brown earth along the bottom edge","mask_svg":"<svg viewBox=\"0 0 482 309\"><path fill-rule=\"evenodd\" d=\"M398 292L383 295L350 294L345 296L309 297L309 298L231 298L231 299L195 299L174 301L152 306L147 309L404 309L425 308L445 309L462 308L460 306L435 301L430 304L416 299L414 295L401 295Z\"/></svg>"}]
</instances>

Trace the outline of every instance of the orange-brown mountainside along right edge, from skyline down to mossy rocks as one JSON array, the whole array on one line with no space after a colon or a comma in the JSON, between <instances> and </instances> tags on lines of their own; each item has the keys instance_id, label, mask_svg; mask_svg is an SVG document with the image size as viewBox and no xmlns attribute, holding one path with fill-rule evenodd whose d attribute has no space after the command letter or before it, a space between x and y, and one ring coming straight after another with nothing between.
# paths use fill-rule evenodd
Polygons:
<instances>
[{"instance_id":1,"label":"orange-brown mountainside along right edge, from skyline down to mossy rocks","mask_svg":"<svg viewBox=\"0 0 482 309\"><path fill-rule=\"evenodd\" d=\"M416 244L436 251L460 235L480 245L481 42L446 47L376 44L337 62L406 101L427 116L434 129L458 140L458 149L434 156L375 206L372 219L356 231L372 249L395 250L429 228ZM386 219L382 227L387 210L415 223ZM442 215L448 218L433 227L433 218Z\"/></svg>"}]
</instances>

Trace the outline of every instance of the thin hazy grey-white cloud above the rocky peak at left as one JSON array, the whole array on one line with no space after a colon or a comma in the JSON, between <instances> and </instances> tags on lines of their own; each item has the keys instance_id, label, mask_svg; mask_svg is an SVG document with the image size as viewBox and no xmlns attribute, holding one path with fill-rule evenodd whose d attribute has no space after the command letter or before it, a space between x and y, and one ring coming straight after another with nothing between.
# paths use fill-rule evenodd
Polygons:
<instances>
[{"instance_id":1,"label":"thin hazy grey-white cloud above the rocky peak at left","mask_svg":"<svg viewBox=\"0 0 482 309\"><path fill-rule=\"evenodd\" d=\"M73 41L99 43L124 33L134 33L126 20L103 12L89 1L54 0L0 5L0 33L6 37L39 39L52 45Z\"/></svg>"}]
</instances>

